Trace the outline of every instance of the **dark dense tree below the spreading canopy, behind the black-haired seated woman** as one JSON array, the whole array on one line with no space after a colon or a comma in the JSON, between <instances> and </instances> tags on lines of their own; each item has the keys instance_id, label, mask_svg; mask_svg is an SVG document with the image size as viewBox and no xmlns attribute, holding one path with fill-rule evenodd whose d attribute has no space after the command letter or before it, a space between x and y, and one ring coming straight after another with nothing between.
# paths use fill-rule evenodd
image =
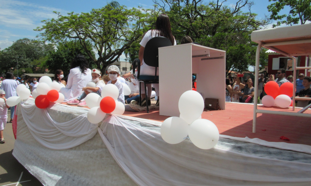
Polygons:
<instances>
[{"instance_id":1,"label":"dark dense tree below the spreading canopy, behind the black-haired seated woman","mask_svg":"<svg viewBox=\"0 0 311 186\"><path fill-rule=\"evenodd\" d=\"M86 47L91 51L91 55L95 58L95 53L92 51L92 46L90 42L86 43ZM83 54L86 59L90 62L89 67L91 69L96 68L94 62L87 55L84 48L74 41L59 43L56 51L50 51L48 59L46 60L47 68L50 73L55 73L56 70L61 69L64 72L64 76L67 77L70 70L70 64L72 59L77 54Z\"/></svg>"}]
</instances>

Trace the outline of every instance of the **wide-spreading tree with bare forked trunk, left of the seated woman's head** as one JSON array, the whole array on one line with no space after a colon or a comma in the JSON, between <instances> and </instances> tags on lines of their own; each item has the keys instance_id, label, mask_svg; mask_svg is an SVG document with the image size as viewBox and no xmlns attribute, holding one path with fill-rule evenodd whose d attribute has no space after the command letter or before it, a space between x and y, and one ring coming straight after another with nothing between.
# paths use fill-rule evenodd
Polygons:
<instances>
[{"instance_id":1,"label":"wide-spreading tree with bare forked trunk, left of the seated woman's head","mask_svg":"<svg viewBox=\"0 0 311 186\"><path fill-rule=\"evenodd\" d=\"M71 12L67 16L54 12L58 18L43 20L44 26L35 30L44 32L37 37L53 43L77 41L103 73L109 64L117 61L141 37L149 14L140 8L126 9L125 6L112 5L92 9L90 13ZM92 48L87 47L87 42L91 43ZM92 55L93 50L97 51L98 57Z\"/></svg>"}]
</instances>

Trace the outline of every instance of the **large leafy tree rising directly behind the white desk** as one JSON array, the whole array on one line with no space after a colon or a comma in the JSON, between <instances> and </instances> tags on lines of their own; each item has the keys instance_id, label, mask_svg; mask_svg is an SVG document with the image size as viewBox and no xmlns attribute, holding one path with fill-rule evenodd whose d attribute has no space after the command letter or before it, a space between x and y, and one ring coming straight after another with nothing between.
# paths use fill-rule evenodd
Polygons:
<instances>
[{"instance_id":1,"label":"large leafy tree rising directly behind the white desk","mask_svg":"<svg viewBox=\"0 0 311 186\"><path fill-rule=\"evenodd\" d=\"M200 45L226 51L226 73L230 70L244 71L255 57L256 46L250 39L254 30L270 22L257 20L251 12L253 2L238 0L235 6L223 2L204 4L202 0L154 0L161 11L169 15L172 32L179 43L189 35ZM247 7L248 12L241 9Z\"/></svg>"}]
</instances>

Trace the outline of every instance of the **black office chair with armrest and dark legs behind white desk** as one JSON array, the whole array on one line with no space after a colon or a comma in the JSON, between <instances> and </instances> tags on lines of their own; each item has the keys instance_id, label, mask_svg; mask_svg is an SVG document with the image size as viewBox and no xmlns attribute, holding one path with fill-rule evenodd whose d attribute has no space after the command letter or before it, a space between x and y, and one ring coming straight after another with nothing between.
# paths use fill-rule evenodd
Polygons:
<instances>
[{"instance_id":1,"label":"black office chair with armrest and dark legs behind white desk","mask_svg":"<svg viewBox=\"0 0 311 186\"><path fill-rule=\"evenodd\" d=\"M150 39L145 47L144 51L144 62L152 67L159 67L159 47L168 47L172 46L172 42L165 37L154 37ZM135 73L133 73L134 77L137 78L139 82L139 95L142 94L141 91L141 82L144 82L145 85L145 95L146 95L146 105L147 105L147 113L149 113L149 108L148 108L148 101L147 101L147 87L146 84L151 84L151 83L159 83L159 76L156 75L157 73L157 68L155 70L155 75L150 76L150 75L140 75L140 60L135 59L133 61L133 70L135 72L137 68L137 76ZM141 105L142 103L142 97L140 96L139 98L139 104Z\"/></svg>"}]
</instances>

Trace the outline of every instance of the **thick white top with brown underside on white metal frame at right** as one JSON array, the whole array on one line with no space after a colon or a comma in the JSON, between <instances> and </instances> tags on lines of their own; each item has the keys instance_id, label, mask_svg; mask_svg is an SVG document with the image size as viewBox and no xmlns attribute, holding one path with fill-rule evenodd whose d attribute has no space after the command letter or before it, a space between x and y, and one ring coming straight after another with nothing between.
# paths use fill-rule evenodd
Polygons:
<instances>
[{"instance_id":1,"label":"thick white top with brown underside on white metal frame at right","mask_svg":"<svg viewBox=\"0 0 311 186\"><path fill-rule=\"evenodd\" d=\"M311 24L253 31L253 42L291 56L311 55Z\"/></svg>"}]
</instances>

